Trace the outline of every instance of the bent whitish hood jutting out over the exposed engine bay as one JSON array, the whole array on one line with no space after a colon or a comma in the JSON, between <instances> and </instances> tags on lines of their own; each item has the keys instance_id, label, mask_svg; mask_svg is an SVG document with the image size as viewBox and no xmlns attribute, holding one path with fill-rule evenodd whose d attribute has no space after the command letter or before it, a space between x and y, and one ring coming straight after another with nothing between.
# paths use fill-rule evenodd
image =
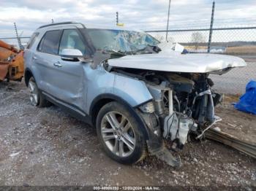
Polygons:
<instances>
[{"instance_id":1,"label":"bent whitish hood jutting out over the exposed engine bay","mask_svg":"<svg viewBox=\"0 0 256 191\"><path fill-rule=\"evenodd\" d=\"M180 54L159 52L158 54L126 55L108 60L114 67L147 69L154 71L174 71L207 73L233 67L244 67L246 62L238 57L217 54Z\"/></svg>"}]
</instances>

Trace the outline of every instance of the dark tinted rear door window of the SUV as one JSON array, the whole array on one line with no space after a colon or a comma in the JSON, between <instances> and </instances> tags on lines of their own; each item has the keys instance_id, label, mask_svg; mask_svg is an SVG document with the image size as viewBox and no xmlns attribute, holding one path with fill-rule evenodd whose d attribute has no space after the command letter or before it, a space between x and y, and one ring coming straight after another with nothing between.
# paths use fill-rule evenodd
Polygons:
<instances>
[{"instance_id":1,"label":"dark tinted rear door window of the SUV","mask_svg":"<svg viewBox=\"0 0 256 191\"><path fill-rule=\"evenodd\" d=\"M39 44L38 51L57 55L59 50L59 39L61 31L47 31Z\"/></svg>"}]
</instances>

